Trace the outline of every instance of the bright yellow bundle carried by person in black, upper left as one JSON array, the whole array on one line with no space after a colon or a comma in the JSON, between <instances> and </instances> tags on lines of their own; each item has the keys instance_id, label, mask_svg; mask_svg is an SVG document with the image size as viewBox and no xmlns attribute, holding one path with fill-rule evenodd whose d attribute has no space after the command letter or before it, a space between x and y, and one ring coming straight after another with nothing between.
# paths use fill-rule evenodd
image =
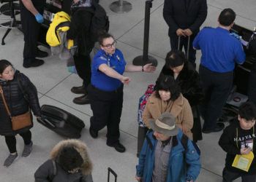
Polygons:
<instances>
[{"instance_id":1,"label":"bright yellow bundle carried by person in black, upper left","mask_svg":"<svg viewBox=\"0 0 256 182\"><path fill-rule=\"evenodd\" d=\"M59 31L69 30L70 17L66 12L57 12L53 17L52 23L46 33L46 42L50 47L56 47L61 44Z\"/></svg>"}]
</instances>

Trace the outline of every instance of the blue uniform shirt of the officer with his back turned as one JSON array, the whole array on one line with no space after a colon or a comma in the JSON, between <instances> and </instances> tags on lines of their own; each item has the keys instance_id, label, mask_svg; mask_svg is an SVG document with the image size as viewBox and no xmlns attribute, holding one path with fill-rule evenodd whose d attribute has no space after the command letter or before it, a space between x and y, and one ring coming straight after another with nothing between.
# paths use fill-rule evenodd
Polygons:
<instances>
[{"instance_id":1,"label":"blue uniform shirt of the officer with his back turned","mask_svg":"<svg viewBox=\"0 0 256 182\"><path fill-rule=\"evenodd\" d=\"M202 51L201 64L211 71L233 71L242 64L245 53L242 44L224 28L203 28L195 37L193 47Z\"/></svg>"}]
</instances>

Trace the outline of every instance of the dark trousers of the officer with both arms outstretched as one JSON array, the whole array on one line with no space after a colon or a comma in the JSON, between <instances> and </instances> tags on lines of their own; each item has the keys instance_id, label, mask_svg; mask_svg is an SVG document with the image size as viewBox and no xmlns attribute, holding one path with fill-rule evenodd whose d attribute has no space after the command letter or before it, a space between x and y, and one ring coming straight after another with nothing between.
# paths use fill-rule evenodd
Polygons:
<instances>
[{"instance_id":1,"label":"dark trousers of the officer with both arms outstretched","mask_svg":"<svg viewBox=\"0 0 256 182\"><path fill-rule=\"evenodd\" d=\"M92 130L102 130L107 126L107 144L113 145L119 140L119 123L123 108L122 85L113 92L105 92L89 85L88 92L91 99L93 116L90 119Z\"/></svg>"}]
</instances>

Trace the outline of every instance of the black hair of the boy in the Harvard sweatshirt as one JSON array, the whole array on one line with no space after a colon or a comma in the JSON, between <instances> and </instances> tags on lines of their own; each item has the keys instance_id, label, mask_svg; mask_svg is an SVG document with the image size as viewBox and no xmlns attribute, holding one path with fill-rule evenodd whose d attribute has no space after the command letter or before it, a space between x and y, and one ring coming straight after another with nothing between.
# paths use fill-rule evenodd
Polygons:
<instances>
[{"instance_id":1,"label":"black hair of the boy in the Harvard sweatshirt","mask_svg":"<svg viewBox=\"0 0 256 182\"><path fill-rule=\"evenodd\" d=\"M238 114L241 118L246 119L247 121L252 121L256 119L256 106L252 102L243 103L239 107Z\"/></svg>"}]
</instances>

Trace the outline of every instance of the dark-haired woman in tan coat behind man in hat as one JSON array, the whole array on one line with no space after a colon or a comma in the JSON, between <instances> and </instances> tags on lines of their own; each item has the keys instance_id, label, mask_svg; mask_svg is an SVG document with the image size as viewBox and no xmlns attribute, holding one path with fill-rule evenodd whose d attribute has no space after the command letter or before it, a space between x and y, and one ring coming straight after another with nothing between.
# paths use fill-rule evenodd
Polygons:
<instances>
[{"instance_id":1,"label":"dark-haired woman in tan coat behind man in hat","mask_svg":"<svg viewBox=\"0 0 256 182\"><path fill-rule=\"evenodd\" d=\"M181 94L173 76L161 75L157 79L156 91L148 98L143 111L143 122L157 119L167 112L176 117L176 125L192 140L193 115L189 102Z\"/></svg>"}]
</instances>

